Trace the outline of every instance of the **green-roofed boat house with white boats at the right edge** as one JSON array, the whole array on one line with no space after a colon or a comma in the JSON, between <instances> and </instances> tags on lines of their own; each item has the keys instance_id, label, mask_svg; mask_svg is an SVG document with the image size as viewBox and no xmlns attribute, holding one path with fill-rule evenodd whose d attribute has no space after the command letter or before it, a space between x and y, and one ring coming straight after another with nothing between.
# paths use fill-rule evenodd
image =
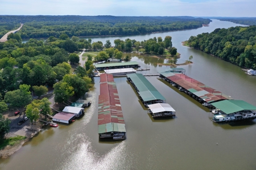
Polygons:
<instances>
[{"instance_id":1,"label":"green-roofed boat house with white boats at the right edge","mask_svg":"<svg viewBox=\"0 0 256 170\"><path fill-rule=\"evenodd\" d=\"M213 122L230 122L256 118L256 107L243 100L223 100L212 104L218 109Z\"/></svg>"}]
</instances>

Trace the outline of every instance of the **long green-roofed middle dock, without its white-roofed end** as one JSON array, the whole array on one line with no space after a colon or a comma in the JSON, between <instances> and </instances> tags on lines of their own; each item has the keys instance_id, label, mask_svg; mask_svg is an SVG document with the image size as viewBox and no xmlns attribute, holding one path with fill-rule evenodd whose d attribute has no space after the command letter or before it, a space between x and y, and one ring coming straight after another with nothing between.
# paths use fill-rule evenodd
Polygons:
<instances>
[{"instance_id":1,"label":"long green-roofed middle dock, without its white-roofed end","mask_svg":"<svg viewBox=\"0 0 256 170\"><path fill-rule=\"evenodd\" d=\"M139 95L139 99L146 107L150 104L166 103L166 99L142 74L128 74L127 80L133 85Z\"/></svg>"}]
</instances>

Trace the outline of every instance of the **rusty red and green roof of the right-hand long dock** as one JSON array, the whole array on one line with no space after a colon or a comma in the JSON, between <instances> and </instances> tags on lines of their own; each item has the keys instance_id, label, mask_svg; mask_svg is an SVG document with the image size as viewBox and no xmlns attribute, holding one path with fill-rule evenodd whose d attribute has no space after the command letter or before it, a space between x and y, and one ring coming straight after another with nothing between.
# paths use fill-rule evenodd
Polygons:
<instances>
[{"instance_id":1,"label":"rusty red and green roof of the right-hand long dock","mask_svg":"<svg viewBox=\"0 0 256 170\"><path fill-rule=\"evenodd\" d=\"M212 103L214 101L232 99L230 96L222 94L222 92L215 90L195 79L190 78L187 75L181 73L175 73L172 71L166 71L160 73L160 75L170 79L172 82L178 84L180 87L185 88L185 90L191 92L192 94L200 97L207 103Z\"/></svg>"}]
</instances>

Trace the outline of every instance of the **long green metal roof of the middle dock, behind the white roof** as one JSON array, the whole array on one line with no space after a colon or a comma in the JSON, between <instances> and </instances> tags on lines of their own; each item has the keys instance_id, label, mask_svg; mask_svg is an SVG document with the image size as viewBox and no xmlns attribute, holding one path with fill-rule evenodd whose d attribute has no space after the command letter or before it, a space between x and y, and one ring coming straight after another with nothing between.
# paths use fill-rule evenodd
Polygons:
<instances>
[{"instance_id":1,"label":"long green metal roof of the middle dock, behind the white roof","mask_svg":"<svg viewBox=\"0 0 256 170\"><path fill-rule=\"evenodd\" d=\"M127 74L127 77L133 81L143 101L166 100L142 74Z\"/></svg>"}]
</instances>

